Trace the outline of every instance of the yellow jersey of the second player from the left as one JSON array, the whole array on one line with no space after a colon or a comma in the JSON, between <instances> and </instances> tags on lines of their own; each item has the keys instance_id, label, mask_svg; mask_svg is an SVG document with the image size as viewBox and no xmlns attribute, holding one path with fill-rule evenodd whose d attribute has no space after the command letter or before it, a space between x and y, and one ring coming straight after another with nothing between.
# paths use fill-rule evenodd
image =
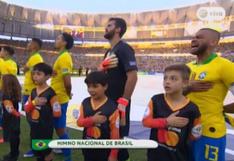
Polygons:
<instances>
[{"instance_id":1,"label":"yellow jersey of the second player from the left","mask_svg":"<svg viewBox=\"0 0 234 161\"><path fill-rule=\"evenodd\" d=\"M43 58L41 57L39 52L32 53L29 57L26 66L29 68L27 72L25 72L25 78L24 78L24 87L23 87L23 94L24 95L30 95L33 88L35 88L35 84L32 81L32 68L38 64L42 63Z\"/></svg>"}]
</instances>

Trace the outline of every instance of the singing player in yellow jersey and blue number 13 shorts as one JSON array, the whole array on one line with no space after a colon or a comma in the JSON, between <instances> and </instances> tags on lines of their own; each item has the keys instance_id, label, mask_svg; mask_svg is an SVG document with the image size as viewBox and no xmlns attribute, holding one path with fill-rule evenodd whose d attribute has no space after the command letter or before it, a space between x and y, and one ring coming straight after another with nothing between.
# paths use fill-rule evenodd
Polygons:
<instances>
[{"instance_id":1,"label":"singing player in yellow jersey and blue number 13 shorts","mask_svg":"<svg viewBox=\"0 0 234 161\"><path fill-rule=\"evenodd\" d=\"M234 94L234 64L214 52L219 39L219 32L203 28L191 42L197 60L188 64L192 71L188 97L198 105L202 123L202 137L192 146L194 161L225 161L223 102L228 90ZM228 107L233 109L233 105Z\"/></svg>"}]
</instances>

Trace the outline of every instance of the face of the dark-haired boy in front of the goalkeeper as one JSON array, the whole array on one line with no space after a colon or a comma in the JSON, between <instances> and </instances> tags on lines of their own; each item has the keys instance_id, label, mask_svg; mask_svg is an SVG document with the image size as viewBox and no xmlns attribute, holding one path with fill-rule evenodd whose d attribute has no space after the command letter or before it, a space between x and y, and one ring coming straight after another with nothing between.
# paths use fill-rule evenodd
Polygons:
<instances>
[{"instance_id":1,"label":"face of the dark-haired boy in front of the goalkeeper","mask_svg":"<svg viewBox=\"0 0 234 161\"><path fill-rule=\"evenodd\" d=\"M87 86L88 86L88 92L93 99L100 99L103 96L105 96L107 85L103 86L97 83L97 84L88 84Z\"/></svg>"}]
</instances>

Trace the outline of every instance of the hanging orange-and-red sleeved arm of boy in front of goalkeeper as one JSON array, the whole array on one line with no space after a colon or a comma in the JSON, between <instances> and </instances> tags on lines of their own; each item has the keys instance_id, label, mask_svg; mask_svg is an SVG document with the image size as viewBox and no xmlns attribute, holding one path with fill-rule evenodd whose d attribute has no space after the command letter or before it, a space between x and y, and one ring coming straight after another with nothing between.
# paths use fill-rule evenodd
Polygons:
<instances>
[{"instance_id":1,"label":"hanging orange-and-red sleeved arm of boy in front of goalkeeper","mask_svg":"<svg viewBox=\"0 0 234 161\"><path fill-rule=\"evenodd\" d=\"M116 110L110 116L110 139L119 139L119 111ZM111 149L109 160L116 160L118 158L118 149Z\"/></svg>"}]
</instances>

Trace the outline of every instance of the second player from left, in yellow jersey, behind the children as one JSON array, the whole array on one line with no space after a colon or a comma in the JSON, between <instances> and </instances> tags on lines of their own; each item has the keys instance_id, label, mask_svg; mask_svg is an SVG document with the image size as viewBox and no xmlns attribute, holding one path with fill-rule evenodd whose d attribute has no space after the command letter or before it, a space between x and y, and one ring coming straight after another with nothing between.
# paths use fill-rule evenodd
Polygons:
<instances>
[{"instance_id":1,"label":"second player from left, in yellow jersey, behind the children","mask_svg":"<svg viewBox=\"0 0 234 161\"><path fill-rule=\"evenodd\" d=\"M28 97L31 94L33 88L36 87L32 80L32 69L35 65L42 63L43 58L39 53L42 47L42 40L38 38L32 38L32 40L27 45L27 51L30 54L27 63L24 66L24 85L23 85L23 100L24 105L28 101ZM33 157L33 151L29 150L24 154L24 157Z\"/></svg>"}]
</instances>

